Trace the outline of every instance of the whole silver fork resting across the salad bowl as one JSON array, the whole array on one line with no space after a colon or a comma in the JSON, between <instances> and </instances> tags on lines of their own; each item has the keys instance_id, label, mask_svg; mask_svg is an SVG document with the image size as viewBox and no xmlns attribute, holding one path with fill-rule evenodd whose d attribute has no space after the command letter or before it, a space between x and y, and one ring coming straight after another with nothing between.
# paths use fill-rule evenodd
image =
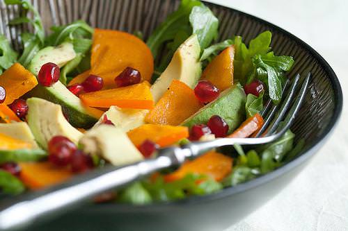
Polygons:
<instances>
[{"instance_id":1,"label":"whole silver fork resting across the salad bowl","mask_svg":"<svg viewBox=\"0 0 348 231\"><path fill-rule=\"evenodd\" d=\"M306 75L299 89L299 74L294 77L291 85L290 80L287 80L283 87L283 93L287 94L283 94L286 96L283 97L282 103L273 105L269 101L261 112L265 122L255 138L219 138L206 142L193 142L181 147L161 148L157 152L157 157L153 159L119 168L107 166L62 185L24 195L19 202L17 200L0 212L0 230L13 230L30 225L39 218L71 209L81 201L104 191L124 187L130 182L168 167L180 166L185 160L198 157L212 148L274 142L292 126L306 95L309 81L310 73Z\"/></svg>"}]
</instances>

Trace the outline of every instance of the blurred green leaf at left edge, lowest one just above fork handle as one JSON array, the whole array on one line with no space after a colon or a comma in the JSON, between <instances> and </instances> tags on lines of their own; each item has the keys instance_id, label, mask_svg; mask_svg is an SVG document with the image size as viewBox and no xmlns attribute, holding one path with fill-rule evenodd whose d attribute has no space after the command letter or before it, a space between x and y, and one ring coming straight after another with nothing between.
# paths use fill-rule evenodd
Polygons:
<instances>
[{"instance_id":1,"label":"blurred green leaf at left edge, lowest one just above fork handle","mask_svg":"<svg viewBox=\"0 0 348 231\"><path fill-rule=\"evenodd\" d=\"M23 183L7 171L0 170L0 189L5 194L17 195L24 191Z\"/></svg>"}]
</instances>

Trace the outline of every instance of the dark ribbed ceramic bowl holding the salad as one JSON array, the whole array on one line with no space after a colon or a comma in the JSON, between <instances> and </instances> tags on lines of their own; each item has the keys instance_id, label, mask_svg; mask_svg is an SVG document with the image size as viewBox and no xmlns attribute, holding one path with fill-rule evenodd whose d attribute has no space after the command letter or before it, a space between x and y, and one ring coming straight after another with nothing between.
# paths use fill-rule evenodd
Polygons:
<instances>
[{"instance_id":1,"label":"dark ribbed ceramic bowl holding the salad","mask_svg":"<svg viewBox=\"0 0 348 231\"><path fill-rule=\"evenodd\" d=\"M175 10L178 0L42 0L35 1L45 27L84 19L93 27L111 28L145 37ZM193 196L174 203L145 206L85 205L47 223L28 230L109 231L109 230L223 230L272 198L301 172L308 160L324 144L342 110L340 83L329 64L308 44L262 19L223 6L207 3L220 20L219 40L242 35L246 42L270 30L276 54L292 55L296 63L289 76L310 67L310 90L292 127L296 140L306 139L301 155L276 171L242 185L223 189L209 196ZM18 9L1 5L0 29L20 49L17 41L21 27L9 29L8 15ZM64 200L64 198L62 198Z\"/></svg>"}]
</instances>

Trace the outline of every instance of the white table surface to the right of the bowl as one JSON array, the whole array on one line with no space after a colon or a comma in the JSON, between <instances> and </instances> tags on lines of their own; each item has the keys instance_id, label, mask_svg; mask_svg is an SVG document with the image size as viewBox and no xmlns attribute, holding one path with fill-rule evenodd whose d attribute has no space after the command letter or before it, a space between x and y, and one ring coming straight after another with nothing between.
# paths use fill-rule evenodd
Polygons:
<instances>
[{"instance_id":1,"label":"white table surface to the right of the bowl","mask_svg":"<svg viewBox=\"0 0 348 231\"><path fill-rule=\"evenodd\" d=\"M348 1L210 0L266 19L313 46L348 87ZM347 102L340 123L305 170L277 196L225 231L348 230Z\"/></svg>"}]
</instances>

